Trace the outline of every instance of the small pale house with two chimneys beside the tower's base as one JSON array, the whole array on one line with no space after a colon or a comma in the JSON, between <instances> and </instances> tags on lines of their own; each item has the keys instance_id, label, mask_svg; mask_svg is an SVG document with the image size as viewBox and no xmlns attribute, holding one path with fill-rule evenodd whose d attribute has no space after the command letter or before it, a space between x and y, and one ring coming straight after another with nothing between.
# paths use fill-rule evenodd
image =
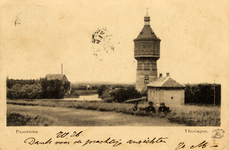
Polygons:
<instances>
[{"instance_id":1,"label":"small pale house with two chimneys beside the tower's base","mask_svg":"<svg viewBox=\"0 0 229 150\"><path fill-rule=\"evenodd\" d=\"M152 101L154 105L164 102L166 106L182 105L185 99L185 86L173 80L169 73L166 77L162 74L153 82L147 85L148 101Z\"/></svg>"}]
</instances>

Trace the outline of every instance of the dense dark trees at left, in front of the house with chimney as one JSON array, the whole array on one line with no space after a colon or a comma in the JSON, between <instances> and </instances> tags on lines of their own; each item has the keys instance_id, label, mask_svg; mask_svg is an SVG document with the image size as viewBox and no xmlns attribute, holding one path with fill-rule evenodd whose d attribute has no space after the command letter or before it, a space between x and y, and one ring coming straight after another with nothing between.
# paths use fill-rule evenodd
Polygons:
<instances>
[{"instance_id":1,"label":"dense dark trees at left, in front of the house with chimney","mask_svg":"<svg viewBox=\"0 0 229 150\"><path fill-rule=\"evenodd\" d=\"M41 98L64 98L70 88L70 82L60 80L6 80L7 98L9 99L41 99Z\"/></svg>"}]
</instances>

